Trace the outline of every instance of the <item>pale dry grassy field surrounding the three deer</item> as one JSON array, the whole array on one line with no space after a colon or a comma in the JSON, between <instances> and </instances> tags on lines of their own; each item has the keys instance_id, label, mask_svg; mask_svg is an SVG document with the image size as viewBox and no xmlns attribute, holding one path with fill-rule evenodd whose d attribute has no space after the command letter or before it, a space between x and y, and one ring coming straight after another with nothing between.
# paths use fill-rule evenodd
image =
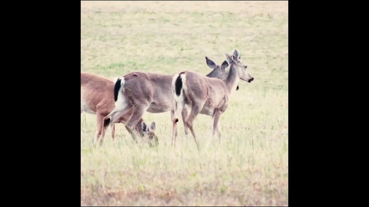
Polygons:
<instances>
[{"instance_id":1,"label":"pale dry grassy field surrounding the three deer","mask_svg":"<svg viewBox=\"0 0 369 207\"><path fill-rule=\"evenodd\" d=\"M81 1L81 71L113 80L131 71L206 75L237 49L255 80L240 81L221 116L195 120L200 152L182 119L170 146L170 112L158 148L135 145L123 124L93 148L96 116L81 116L81 205L288 205L288 1Z\"/></svg>"}]
</instances>

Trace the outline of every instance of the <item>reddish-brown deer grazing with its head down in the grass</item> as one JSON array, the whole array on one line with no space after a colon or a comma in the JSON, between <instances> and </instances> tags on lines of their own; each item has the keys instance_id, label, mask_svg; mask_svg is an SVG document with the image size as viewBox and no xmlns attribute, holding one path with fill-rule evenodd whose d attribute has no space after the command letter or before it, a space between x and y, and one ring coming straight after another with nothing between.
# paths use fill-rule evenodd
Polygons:
<instances>
[{"instance_id":1,"label":"reddish-brown deer grazing with its head down in the grass","mask_svg":"<svg viewBox=\"0 0 369 207\"><path fill-rule=\"evenodd\" d=\"M96 114L97 130L96 140L99 141L101 129L103 127L103 119L114 109L114 82L106 78L96 76L89 73L81 72L81 114L82 112ZM132 112L126 113L114 123L126 124ZM109 126L111 138L114 140L115 124ZM106 129L106 127L105 127ZM154 139L155 144L158 144L158 137L155 135L155 122L151 123L150 129L141 118L135 125L135 129L142 137L148 137L149 144ZM100 139L100 145L102 144Z\"/></svg>"}]
</instances>

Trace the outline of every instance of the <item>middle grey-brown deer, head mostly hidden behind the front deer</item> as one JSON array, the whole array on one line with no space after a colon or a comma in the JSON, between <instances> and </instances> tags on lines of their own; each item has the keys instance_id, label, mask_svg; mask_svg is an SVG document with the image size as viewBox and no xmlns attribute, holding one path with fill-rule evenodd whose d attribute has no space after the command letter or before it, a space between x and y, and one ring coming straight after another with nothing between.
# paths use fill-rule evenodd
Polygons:
<instances>
[{"instance_id":1,"label":"middle grey-brown deer, head mostly hidden behind the front deer","mask_svg":"<svg viewBox=\"0 0 369 207\"><path fill-rule=\"evenodd\" d=\"M218 66L206 57L206 63L213 69L206 75L207 77L227 78L227 71L225 70L228 66L227 61ZM110 123L116 122L119 117L132 110L132 116L125 125L125 128L130 132L146 111L149 113L170 111L171 119L173 120L174 97L171 91L173 76L136 71L118 78L114 87L115 109L104 118L104 127L106 128ZM187 116L187 110L183 108L182 117ZM186 136L189 133L186 125L184 125L184 132ZM175 133L177 134L177 130ZM135 140L134 134L131 133L131 135Z\"/></svg>"}]
</instances>

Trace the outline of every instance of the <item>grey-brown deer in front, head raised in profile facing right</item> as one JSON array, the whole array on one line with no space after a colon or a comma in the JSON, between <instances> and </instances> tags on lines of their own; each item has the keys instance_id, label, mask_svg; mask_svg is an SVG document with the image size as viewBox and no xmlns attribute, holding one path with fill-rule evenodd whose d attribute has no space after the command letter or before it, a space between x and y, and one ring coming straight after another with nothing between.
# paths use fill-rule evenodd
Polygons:
<instances>
[{"instance_id":1,"label":"grey-brown deer in front, head raised in profile facing right","mask_svg":"<svg viewBox=\"0 0 369 207\"><path fill-rule=\"evenodd\" d=\"M177 136L174 133L177 130L177 113L183 110L183 108L186 108L190 112L189 116L184 119L184 125L190 129L197 145L197 150L199 150L199 144L196 140L193 122L199 113L213 117L213 136L215 131L217 131L220 141L221 130L219 119L222 113L228 108L230 95L238 86L239 79L248 83L254 80L254 77L246 71L247 66L241 62L241 57L236 49L232 56L227 53L224 53L224 55L230 63L230 70L225 80L209 78L190 71L183 71L173 77L172 93L175 97L175 113L173 118L172 144L173 139L175 140ZM223 64L222 66L226 67Z\"/></svg>"}]
</instances>

